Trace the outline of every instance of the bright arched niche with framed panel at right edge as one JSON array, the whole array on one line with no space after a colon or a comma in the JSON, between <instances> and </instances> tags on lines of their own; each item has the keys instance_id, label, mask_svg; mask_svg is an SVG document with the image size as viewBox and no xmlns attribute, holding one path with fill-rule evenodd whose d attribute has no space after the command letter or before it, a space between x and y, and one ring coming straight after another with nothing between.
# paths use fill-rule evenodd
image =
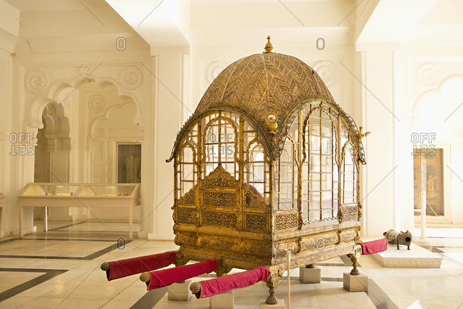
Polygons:
<instances>
[{"instance_id":1,"label":"bright arched niche with framed panel at right edge","mask_svg":"<svg viewBox=\"0 0 463 309\"><path fill-rule=\"evenodd\" d=\"M452 213L459 211L456 201L461 193L455 187L459 183L455 175L463 173L463 166L457 159L463 152L462 121L462 75L447 76L437 88L420 94L413 105L410 131L414 207L415 210L421 207L420 178L425 173L427 221L450 223L455 219ZM426 168L422 168L423 163ZM419 213L415 212L417 215ZM415 217L416 220L419 219Z\"/></svg>"}]
</instances>

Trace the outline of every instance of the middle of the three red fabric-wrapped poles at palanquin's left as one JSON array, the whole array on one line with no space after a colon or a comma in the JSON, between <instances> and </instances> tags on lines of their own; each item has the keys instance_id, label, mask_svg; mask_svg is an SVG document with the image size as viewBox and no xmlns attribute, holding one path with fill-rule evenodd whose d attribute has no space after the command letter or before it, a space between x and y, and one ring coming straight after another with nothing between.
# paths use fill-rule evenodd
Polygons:
<instances>
[{"instance_id":1,"label":"middle of the three red fabric-wrapped poles at palanquin's left","mask_svg":"<svg viewBox=\"0 0 463 309\"><path fill-rule=\"evenodd\" d=\"M210 273L217 269L219 263L215 258L204 260L201 263L183 265L174 268L150 271L150 281L146 283L147 290L162 288L163 286L177 283L189 278Z\"/></svg>"}]
</instances>

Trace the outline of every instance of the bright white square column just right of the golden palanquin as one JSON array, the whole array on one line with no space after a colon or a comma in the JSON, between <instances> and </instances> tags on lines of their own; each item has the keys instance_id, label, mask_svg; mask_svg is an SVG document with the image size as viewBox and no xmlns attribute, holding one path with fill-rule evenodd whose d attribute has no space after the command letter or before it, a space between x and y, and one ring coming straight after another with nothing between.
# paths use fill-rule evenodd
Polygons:
<instances>
[{"instance_id":1,"label":"bright white square column just right of the golden palanquin","mask_svg":"<svg viewBox=\"0 0 463 309\"><path fill-rule=\"evenodd\" d=\"M378 42L357 46L365 51L365 87L366 106L365 131L371 131L368 147L365 149L367 161L366 183L363 192L366 196L363 204L368 205L365 220L368 221L367 235L382 236L384 231L392 228L394 211L392 196L392 173L397 172L393 165L394 139L392 126L396 117L392 113L392 57L394 42Z\"/></svg>"}]
</instances>

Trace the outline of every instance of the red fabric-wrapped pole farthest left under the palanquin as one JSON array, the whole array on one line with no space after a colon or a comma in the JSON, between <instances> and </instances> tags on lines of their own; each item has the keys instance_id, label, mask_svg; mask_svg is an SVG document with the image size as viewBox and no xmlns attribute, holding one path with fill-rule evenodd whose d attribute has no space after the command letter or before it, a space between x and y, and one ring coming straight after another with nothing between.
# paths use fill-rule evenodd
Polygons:
<instances>
[{"instance_id":1,"label":"red fabric-wrapped pole farthest left under the palanquin","mask_svg":"<svg viewBox=\"0 0 463 309\"><path fill-rule=\"evenodd\" d=\"M109 270L106 271L108 281L144 273L145 271L164 268L175 263L175 251L157 253L152 255L139 256L138 258L128 258L126 260L115 260L109 262Z\"/></svg>"}]
</instances>

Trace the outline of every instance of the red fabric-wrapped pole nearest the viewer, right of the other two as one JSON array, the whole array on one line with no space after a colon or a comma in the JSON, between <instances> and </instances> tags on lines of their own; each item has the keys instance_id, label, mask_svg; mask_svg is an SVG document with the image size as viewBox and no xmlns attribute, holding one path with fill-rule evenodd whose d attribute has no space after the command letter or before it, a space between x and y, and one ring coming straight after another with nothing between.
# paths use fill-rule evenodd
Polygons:
<instances>
[{"instance_id":1,"label":"red fabric-wrapped pole nearest the viewer, right of the other two","mask_svg":"<svg viewBox=\"0 0 463 309\"><path fill-rule=\"evenodd\" d=\"M236 288L246 288L246 286L254 285L259 281L268 280L269 275L270 270L267 266L259 266L258 268L246 270L242 273L234 273L233 275L224 275L223 277L204 280L199 282L201 285L201 294L196 295L196 297L207 298Z\"/></svg>"}]
</instances>

